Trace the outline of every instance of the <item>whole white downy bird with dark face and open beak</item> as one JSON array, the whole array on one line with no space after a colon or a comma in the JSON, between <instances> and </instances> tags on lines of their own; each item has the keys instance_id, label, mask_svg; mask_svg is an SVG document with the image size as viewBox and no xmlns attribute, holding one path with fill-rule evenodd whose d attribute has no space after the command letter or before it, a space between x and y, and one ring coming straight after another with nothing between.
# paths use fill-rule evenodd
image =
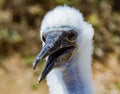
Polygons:
<instances>
[{"instance_id":1,"label":"whole white downy bird with dark face and open beak","mask_svg":"<svg viewBox=\"0 0 120 94\"><path fill-rule=\"evenodd\" d=\"M60 5L43 18L41 51L33 68L46 59L38 77L46 78L50 94L95 94L92 79L94 29L82 13L71 6Z\"/></svg>"}]
</instances>

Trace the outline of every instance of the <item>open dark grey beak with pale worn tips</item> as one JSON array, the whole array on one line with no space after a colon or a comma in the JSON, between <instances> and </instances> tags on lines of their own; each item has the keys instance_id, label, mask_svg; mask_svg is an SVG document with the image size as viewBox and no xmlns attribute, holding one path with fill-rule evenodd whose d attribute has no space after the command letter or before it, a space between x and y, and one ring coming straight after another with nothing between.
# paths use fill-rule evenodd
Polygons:
<instances>
[{"instance_id":1,"label":"open dark grey beak with pale worn tips","mask_svg":"<svg viewBox=\"0 0 120 94\"><path fill-rule=\"evenodd\" d=\"M38 83L52 70L58 58L67 49L73 49L73 45L65 40L63 31L54 31L47 34L45 45L33 62L33 68L35 69L39 61L48 56L46 65L38 78Z\"/></svg>"}]
</instances>

